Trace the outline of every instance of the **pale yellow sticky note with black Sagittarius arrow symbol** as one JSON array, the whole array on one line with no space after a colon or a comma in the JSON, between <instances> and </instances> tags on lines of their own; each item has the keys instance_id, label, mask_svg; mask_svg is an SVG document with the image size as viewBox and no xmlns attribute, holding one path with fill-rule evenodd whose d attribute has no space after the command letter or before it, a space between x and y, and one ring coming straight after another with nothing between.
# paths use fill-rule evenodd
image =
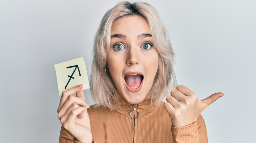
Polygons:
<instances>
[{"instance_id":1,"label":"pale yellow sticky note with black Sagittarius arrow symbol","mask_svg":"<svg viewBox=\"0 0 256 143\"><path fill-rule=\"evenodd\" d=\"M80 84L84 86L82 90L90 88L83 57L56 64L54 67L59 95L61 95L63 91Z\"/></svg>"}]
</instances>

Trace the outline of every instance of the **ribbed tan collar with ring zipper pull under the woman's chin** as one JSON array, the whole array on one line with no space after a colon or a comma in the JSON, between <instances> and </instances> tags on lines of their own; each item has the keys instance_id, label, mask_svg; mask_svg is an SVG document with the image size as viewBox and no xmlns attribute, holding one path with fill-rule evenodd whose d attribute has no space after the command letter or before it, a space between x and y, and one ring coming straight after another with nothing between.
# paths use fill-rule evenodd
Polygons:
<instances>
[{"instance_id":1,"label":"ribbed tan collar with ring zipper pull under the woman's chin","mask_svg":"<svg viewBox=\"0 0 256 143\"><path fill-rule=\"evenodd\" d=\"M128 117L131 118L130 112L131 112L131 110L134 109L133 108L134 104L128 103L120 95L120 93L118 91L117 91L117 95L116 96L117 96L117 100L118 100L119 106L118 106L117 103L114 104L113 105L113 110L118 112L118 113L120 113L120 114L123 114L123 115L128 116ZM151 106L150 99L144 99L141 103L136 104L136 109L139 111L139 117L141 117L141 116L143 116L143 115L145 115L145 114L155 110L156 108L158 108L158 107ZM135 114L137 116L138 113L136 113L135 111L133 111L131 113L131 115L133 117L135 116Z\"/></svg>"}]
</instances>

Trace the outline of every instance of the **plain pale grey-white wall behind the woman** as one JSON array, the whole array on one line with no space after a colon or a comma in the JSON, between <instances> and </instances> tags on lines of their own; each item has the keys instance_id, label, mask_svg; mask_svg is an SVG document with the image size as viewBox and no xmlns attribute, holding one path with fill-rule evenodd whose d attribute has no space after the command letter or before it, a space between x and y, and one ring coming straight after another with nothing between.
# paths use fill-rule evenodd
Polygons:
<instances>
[{"instance_id":1,"label":"plain pale grey-white wall behind the woman","mask_svg":"<svg viewBox=\"0 0 256 143\"><path fill-rule=\"evenodd\" d=\"M200 100L224 93L202 112L209 143L256 142L256 2L147 2L169 27L178 84ZM116 3L0 1L0 142L58 142L53 65L83 56L90 75L94 34Z\"/></svg>"}]
</instances>

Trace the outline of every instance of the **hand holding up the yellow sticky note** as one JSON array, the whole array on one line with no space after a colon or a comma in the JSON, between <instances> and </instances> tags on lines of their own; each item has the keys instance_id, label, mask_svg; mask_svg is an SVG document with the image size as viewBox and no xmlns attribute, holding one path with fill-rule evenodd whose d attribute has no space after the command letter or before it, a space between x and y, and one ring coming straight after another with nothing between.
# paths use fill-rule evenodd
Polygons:
<instances>
[{"instance_id":1,"label":"hand holding up the yellow sticky note","mask_svg":"<svg viewBox=\"0 0 256 143\"><path fill-rule=\"evenodd\" d=\"M58 118L63 127L81 143L92 143L90 119L84 100L83 85L63 91L58 107ZM76 97L73 94L76 93Z\"/></svg>"}]
</instances>

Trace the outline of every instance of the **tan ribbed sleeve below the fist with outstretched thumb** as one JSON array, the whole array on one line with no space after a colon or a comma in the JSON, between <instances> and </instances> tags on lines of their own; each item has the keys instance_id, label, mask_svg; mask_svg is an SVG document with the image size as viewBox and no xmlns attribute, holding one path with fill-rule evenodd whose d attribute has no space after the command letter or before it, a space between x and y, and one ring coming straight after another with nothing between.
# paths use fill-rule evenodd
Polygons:
<instances>
[{"instance_id":1,"label":"tan ribbed sleeve below the fist with outstretched thumb","mask_svg":"<svg viewBox=\"0 0 256 143\"><path fill-rule=\"evenodd\" d=\"M206 126L203 117L199 115L197 121L184 127L173 127L174 143L208 143Z\"/></svg>"}]
</instances>

